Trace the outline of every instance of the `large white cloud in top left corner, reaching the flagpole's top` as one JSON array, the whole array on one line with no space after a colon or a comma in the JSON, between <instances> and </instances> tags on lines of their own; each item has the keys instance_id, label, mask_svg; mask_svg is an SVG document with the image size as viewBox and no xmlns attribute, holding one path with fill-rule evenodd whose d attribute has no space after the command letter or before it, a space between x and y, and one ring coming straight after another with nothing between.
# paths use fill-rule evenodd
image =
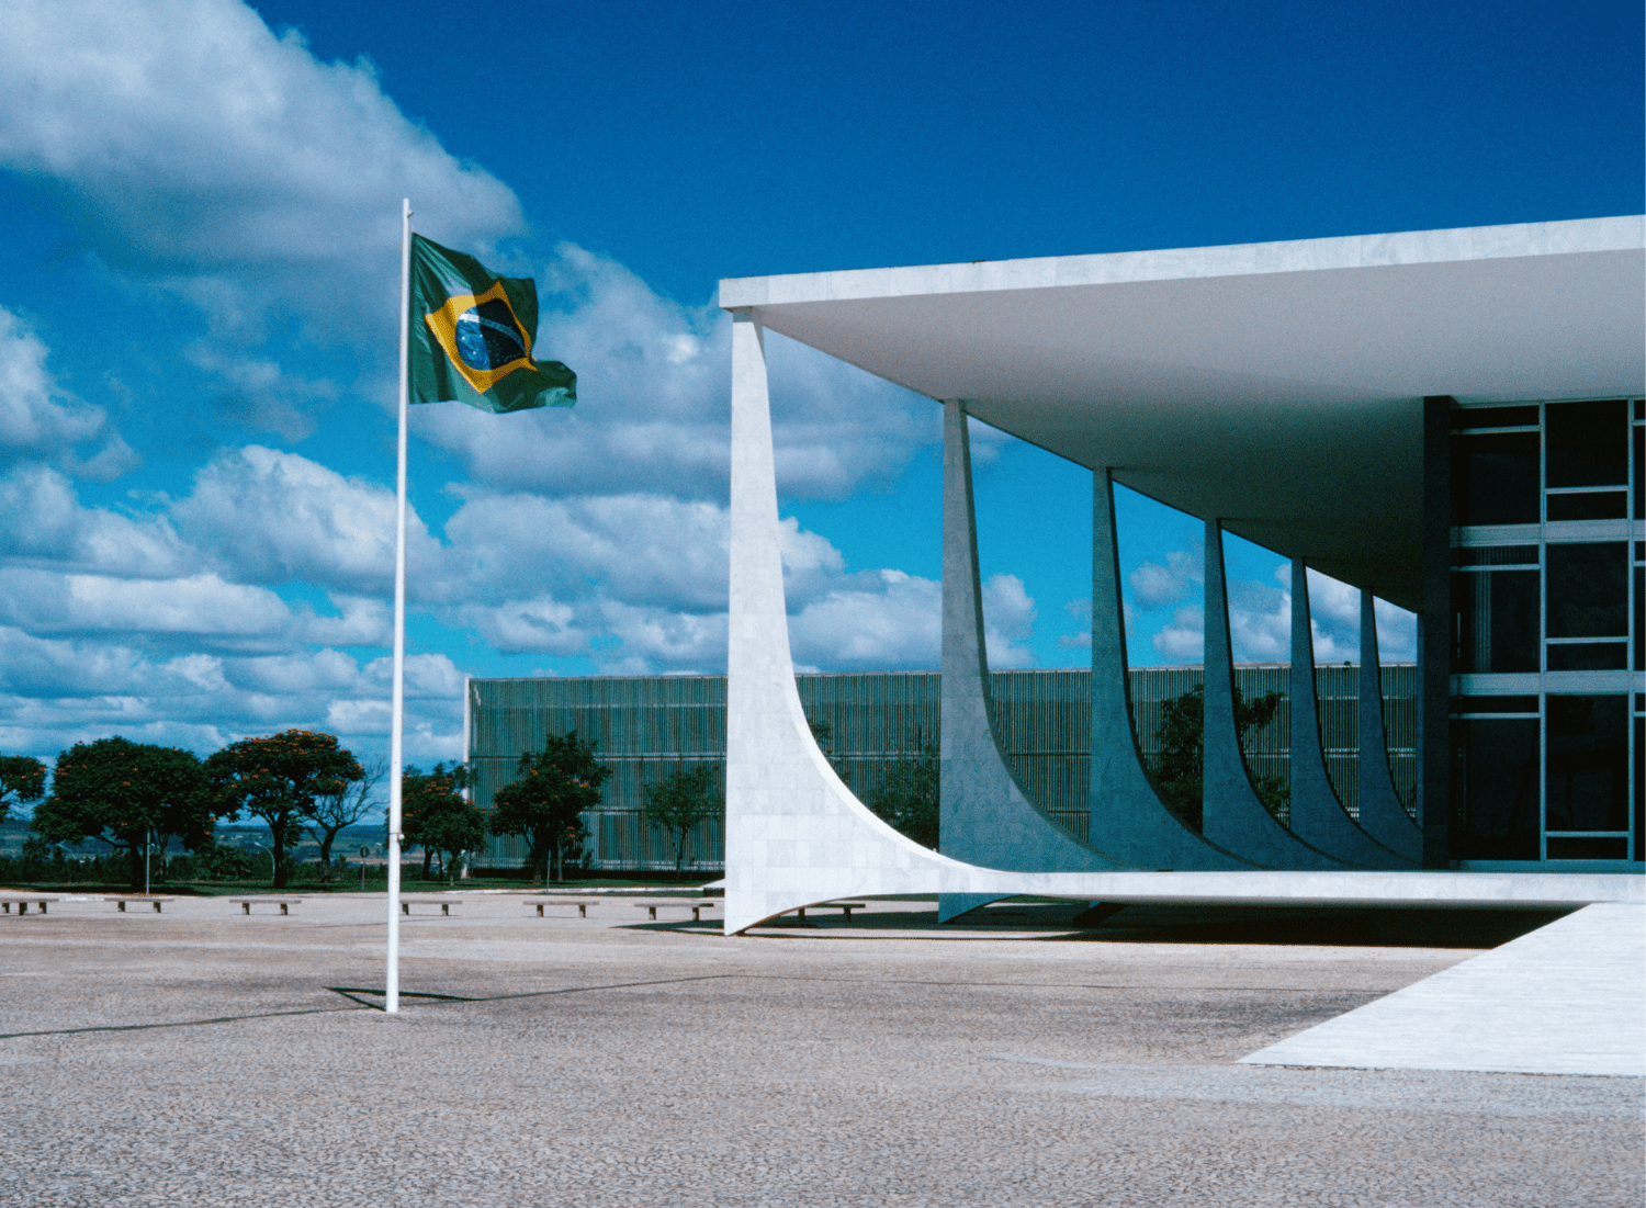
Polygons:
<instances>
[{"instance_id":1,"label":"large white cloud in top left corner, reaching the flagpole's top","mask_svg":"<svg viewBox=\"0 0 1646 1208\"><path fill-rule=\"evenodd\" d=\"M275 296L357 313L346 286L393 280L405 196L436 239L523 229L514 193L400 114L370 64L321 63L237 0L8 5L0 165L51 181L107 263L224 326Z\"/></svg>"}]
</instances>

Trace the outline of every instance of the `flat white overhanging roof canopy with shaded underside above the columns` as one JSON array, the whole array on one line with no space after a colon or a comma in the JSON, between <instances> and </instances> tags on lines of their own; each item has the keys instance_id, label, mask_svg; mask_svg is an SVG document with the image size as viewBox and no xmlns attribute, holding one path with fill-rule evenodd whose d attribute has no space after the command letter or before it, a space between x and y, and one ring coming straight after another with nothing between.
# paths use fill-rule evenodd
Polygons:
<instances>
[{"instance_id":1,"label":"flat white overhanging roof canopy with shaded underside above the columns","mask_svg":"<svg viewBox=\"0 0 1646 1208\"><path fill-rule=\"evenodd\" d=\"M1646 390L1646 219L721 281L726 309L1419 607L1422 400Z\"/></svg>"}]
</instances>

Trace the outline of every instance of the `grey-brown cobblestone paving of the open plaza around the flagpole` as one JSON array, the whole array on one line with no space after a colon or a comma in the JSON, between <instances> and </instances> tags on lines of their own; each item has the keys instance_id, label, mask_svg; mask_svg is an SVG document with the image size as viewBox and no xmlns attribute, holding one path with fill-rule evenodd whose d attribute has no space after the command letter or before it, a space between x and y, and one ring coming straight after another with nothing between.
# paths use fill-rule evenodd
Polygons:
<instances>
[{"instance_id":1,"label":"grey-brown cobblestone paving of the open plaza around the flagpole","mask_svg":"<svg viewBox=\"0 0 1646 1208\"><path fill-rule=\"evenodd\" d=\"M3 1205L1643 1200L1639 1080L1231 1065L1463 950L109 910L0 918Z\"/></svg>"}]
</instances>

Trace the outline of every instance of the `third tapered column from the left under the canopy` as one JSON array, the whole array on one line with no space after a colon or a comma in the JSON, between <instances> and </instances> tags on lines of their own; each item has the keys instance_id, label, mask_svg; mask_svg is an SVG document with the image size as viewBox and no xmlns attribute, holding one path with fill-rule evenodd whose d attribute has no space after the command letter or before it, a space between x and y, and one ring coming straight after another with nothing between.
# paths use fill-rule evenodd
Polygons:
<instances>
[{"instance_id":1,"label":"third tapered column from the left under the canopy","mask_svg":"<svg viewBox=\"0 0 1646 1208\"><path fill-rule=\"evenodd\" d=\"M1091 829L1095 848L1144 869L1251 869L1165 808L1142 769L1131 722L1114 482L1091 490ZM1261 806L1259 806L1261 808Z\"/></svg>"}]
</instances>

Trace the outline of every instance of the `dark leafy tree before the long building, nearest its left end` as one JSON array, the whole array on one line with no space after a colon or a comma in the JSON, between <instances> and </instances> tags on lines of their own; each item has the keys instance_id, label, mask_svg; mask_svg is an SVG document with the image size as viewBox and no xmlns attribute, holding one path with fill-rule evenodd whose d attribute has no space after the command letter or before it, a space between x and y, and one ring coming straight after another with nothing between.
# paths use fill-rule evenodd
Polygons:
<instances>
[{"instance_id":1,"label":"dark leafy tree before the long building, nearest its left end","mask_svg":"<svg viewBox=\"0 0 1646 1208\"><path fill-rule=\"evenodd\" d=\"M578 731L550 734L542 750L520 755L515 778L492 798L492 834L523 834L528 866L543 869L548 884L550 861L561 866L565 851L583 839L583 813L599 805L611 774Z\"/></svg>"}]
</instances>

